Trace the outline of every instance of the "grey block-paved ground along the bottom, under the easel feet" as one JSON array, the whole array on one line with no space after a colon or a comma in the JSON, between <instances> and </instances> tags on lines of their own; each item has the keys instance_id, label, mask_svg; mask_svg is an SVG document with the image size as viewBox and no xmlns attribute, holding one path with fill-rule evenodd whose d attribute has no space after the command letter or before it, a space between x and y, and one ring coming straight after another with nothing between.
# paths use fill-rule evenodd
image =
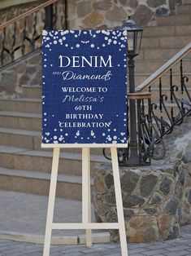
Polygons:
<instances>
[{"instance_id":1,"label":"grey block-paved ground along the bottom, under the easel feet","mask_svg":"<svg viewBox=\"0 0 191 256\"><path fill-rule=\"evenodd\" d=\"M181 228L182 237L163 243L129 244L128 256L190 256L191 255L191 225ZM0 240L1 256L41 256L42 245L24 242ZM118 244L93 245L91 249L85 245L53 245L50 256L120 256Z\"/></svg>"}]
</instances>

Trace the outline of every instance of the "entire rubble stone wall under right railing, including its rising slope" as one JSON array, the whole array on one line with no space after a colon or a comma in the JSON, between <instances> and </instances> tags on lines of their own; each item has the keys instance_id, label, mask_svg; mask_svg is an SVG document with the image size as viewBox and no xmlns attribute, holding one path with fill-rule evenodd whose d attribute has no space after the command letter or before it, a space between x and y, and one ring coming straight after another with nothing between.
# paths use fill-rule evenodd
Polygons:
<instances>
[{"instance_id":1,"label":"entire rubble stone wall under right railing, including its rising slope","mask_svg":"<svg viewBox=\"0 0 191 256\"><path fill-rule=\"evenodd\" d=\"M191 223L191 117L167 135L167 156L151 166L120 167L127 238L130 242L164 241L180 236ZM175 139L179 135L179 139ZM169 143L171 141L171 143ZM94 176L94 208L98 222L116 222L115 192L110 164ZM113 240L118 232L112 232Z\"/></svg>"}]
</instances>

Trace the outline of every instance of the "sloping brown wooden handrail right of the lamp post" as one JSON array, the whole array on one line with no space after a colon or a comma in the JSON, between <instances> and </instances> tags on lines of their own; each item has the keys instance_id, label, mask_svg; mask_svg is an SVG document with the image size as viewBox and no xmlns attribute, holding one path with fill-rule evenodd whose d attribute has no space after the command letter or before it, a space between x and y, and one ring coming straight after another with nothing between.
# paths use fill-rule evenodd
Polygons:
<instances>
[{"instance_id":1,"label":"sloping brown wooden handrail right of the lamp post","mask_svg":"<svg viewBox=\"0 0 191 256\"><path fill-rule=\"evenodd\" d=\"M181 60L185 55L191 52L191 42L187 46L184 46L179 52L176 53L170 60L168 60L163 66L157 69L150 77L141 82L139 86L136 87L136 91L144 91L154 84L164 73L171 69L179 60Z\"/></svg>"}]
</instances>

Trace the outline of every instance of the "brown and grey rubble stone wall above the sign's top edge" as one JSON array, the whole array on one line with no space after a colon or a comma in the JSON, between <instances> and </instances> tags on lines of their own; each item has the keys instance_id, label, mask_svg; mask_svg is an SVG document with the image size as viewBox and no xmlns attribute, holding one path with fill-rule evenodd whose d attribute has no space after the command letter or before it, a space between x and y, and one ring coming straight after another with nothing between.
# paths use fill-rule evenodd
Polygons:
<instances>
[{"instance_id":1,"label":"brown and grey rubble stone wall above the sign's top edge","mask_svg":"<svg viewBox=\"0 0 191 256\"><path fill-rule=\"evenodd\" d=\"M128 15L137 24L154 25L156 15L169 14L168 0L70 0L69 27L115 29Z\"/></svg>"}]
</instances>

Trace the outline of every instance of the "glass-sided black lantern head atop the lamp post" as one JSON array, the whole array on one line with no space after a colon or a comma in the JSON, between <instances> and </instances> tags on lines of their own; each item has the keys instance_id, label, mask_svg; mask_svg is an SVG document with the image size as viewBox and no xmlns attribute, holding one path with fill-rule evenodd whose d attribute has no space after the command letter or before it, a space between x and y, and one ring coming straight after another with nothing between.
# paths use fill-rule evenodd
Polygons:
<instances>
[{"instance_id":1,"label":"glass-sided black lantern head atop the lamp post","mask_svg":"<svg viewBox=\"0 0 191 256\"><path fill-rule=\"evenodd\" d=\"M121 30L127 31L128 38L128 58L132 59L139 55L143 29L139 27L130 16L125 20Z\"/></svg>"}]
</instances>

